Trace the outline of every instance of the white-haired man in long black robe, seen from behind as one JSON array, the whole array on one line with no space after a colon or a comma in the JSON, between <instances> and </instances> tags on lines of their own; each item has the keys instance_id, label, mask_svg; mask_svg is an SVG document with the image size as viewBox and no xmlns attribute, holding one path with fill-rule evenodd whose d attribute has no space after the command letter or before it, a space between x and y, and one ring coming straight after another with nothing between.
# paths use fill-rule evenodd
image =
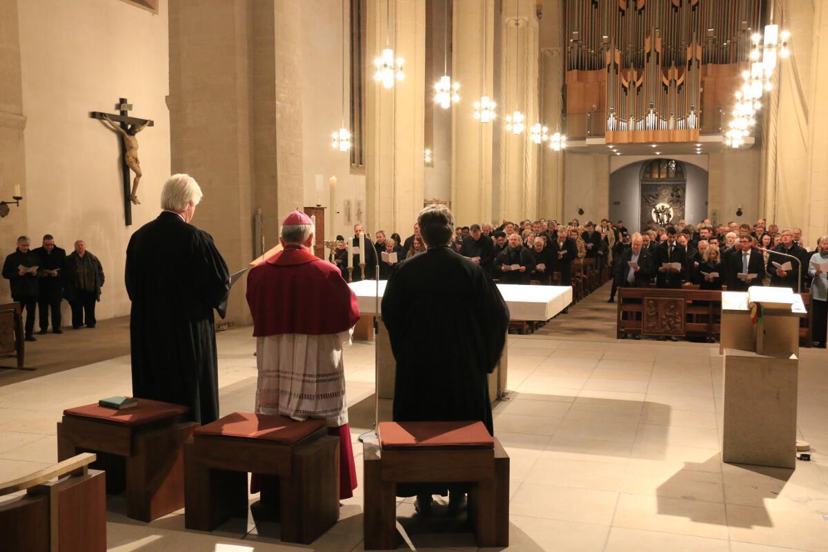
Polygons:
<instances>
[{"instance_id":1,"label":"white-haired man in long black robe, seen from behind","mask_svg":"<svg viewBox=\"0 0 828 552\"><path fill-rule=\"evenodd\" d=\"M209 424L219 418L213 310L230 279L213 238L190 224L200 199L189 175L166 181L164 210L129 240L126 283L132 395L188 406L192 420Z\"/></svg>"}]
</instances>

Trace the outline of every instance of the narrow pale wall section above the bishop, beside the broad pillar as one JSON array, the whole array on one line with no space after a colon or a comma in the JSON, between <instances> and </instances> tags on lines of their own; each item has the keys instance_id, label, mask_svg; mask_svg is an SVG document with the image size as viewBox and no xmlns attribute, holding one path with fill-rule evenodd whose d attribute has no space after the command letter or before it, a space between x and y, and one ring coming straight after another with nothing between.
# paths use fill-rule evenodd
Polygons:
<instances>
[{"instance_id":1,"label":"narrow pale wall section above the bishop, beside the broad pillar","mask_svg":"<svg viewBox=\"0 0 828 552\"><path fill-rule=\"evenodd\" d=\"M349 18L348 2L345 17ZM340 233L353 235L357 220L357 202L365 213L365 176L351 174L350 153L331 147L331 134L339 130L342 112L342 12L339 2L302 0L301 90L302 90L302 174L305 204L321 203L327 218L325 238ZM349 48L349 23L345 23L345 47ZM349 63L345 56L344 62ZM373 85L373 60L368 60L367 85ZM349 125L349 67L345 68L344 122ZM331 209L330 177L336 176L334 208ZM345 219L345 200L351 202L351 221ZM301 207L301 206L300 206ZM363 215L364 218L364 215ZM376 228L368 228L373 234Z\"/></svg>"}]
</instances>

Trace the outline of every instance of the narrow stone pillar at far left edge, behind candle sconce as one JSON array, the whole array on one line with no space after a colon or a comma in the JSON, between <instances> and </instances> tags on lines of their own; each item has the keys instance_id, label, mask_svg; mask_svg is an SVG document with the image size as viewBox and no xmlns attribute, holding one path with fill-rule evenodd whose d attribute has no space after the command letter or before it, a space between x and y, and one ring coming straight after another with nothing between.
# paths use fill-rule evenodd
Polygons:
<instances>
[{"instance_id":1,"label":"narrow stone pillar at far left edge, behind candle sconce","mask_svg":"<svg viewBox=\"0 0 828 552\"><path fill-rule=\"evenodd\" d=\"M23 88L20 66L20 35L17 23L17 0L0 0L0 199L12 199L15 185L20 185L20 207L9 205L10 213L0 218L0 256L5 258L17 247L17 236L26 233L26 157L23 149ZM37 247L34 238L33 247ZM0 302L11 300L7 282L0 285Z\"/></svg>"}]
</instances>

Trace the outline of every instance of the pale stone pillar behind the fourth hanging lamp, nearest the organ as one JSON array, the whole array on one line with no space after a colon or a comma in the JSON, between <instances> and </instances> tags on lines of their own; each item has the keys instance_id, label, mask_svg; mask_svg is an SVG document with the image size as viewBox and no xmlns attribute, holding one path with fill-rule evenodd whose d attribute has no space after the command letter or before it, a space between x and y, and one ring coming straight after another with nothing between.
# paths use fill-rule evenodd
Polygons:
<instances>
[{"instance_id":1,"label":"pale stone pillar behind the fourth hanging lamp, nearest the organ","mask_svg":"<svg viewBox=\"0 0 828 552\"><path fill-rule=\"evenodd\" d=\"M538 148L529 129L540 122L538 113L538 23L532 2L503 0L501 41L501 98L503 117L500 150L500 212L496 218L538 218ZM519 135L506 128L514 111L525 117Z\"/></svg>"}]
</instances>

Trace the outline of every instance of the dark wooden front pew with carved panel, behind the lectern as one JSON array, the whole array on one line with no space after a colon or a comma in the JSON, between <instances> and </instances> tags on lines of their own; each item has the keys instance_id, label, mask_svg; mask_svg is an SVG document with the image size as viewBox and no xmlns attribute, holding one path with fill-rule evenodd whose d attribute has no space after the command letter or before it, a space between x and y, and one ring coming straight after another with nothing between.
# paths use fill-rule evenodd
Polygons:
<instances>
[{"instance_id":1,"label":"dark wooden front pew with carved panel, behind the lectern","mask_svg":"<svg viewBox=\"0 0 828 552\"><path fill-rule=\"evenodd\" d=\"M619 287L616 337L624 334L652 337L705 338L721 334L721 291L681 288ZM802 294L808 314L800 320L800 338L811 347L811 295Z\"/></svg>"}]
</instances>

